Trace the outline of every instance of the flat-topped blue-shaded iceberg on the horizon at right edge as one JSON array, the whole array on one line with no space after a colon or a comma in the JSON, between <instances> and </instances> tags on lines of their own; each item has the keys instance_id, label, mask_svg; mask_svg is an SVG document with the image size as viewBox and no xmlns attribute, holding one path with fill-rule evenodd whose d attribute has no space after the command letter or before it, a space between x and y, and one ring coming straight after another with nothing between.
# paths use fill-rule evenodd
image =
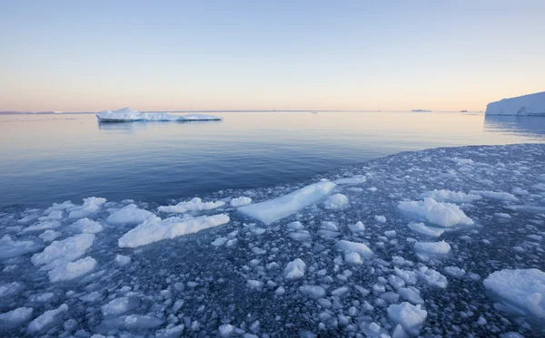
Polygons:
<instances>
[{"instance_id":1,"label":"flat-topped blue-shaded iceberg on the horizon at right edge","mask_svg":"<svg viewBox=\"0 0 545 338\"><path fill-rule=\"evenodd\" d=\"M486 115L545 115L545 92L490 102Z\"/></svg>"}]
</instances>

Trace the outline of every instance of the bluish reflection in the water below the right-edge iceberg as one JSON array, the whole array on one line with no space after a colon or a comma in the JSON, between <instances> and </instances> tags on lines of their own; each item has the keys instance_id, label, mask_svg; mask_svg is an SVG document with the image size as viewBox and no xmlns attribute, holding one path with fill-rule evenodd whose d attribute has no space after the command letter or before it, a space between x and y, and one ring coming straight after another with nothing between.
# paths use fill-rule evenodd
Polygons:
<instances>
[{"instance_id":1,"label":"bluish reflection in the water below the right-edge iceberg","mask_svg":"<svg viewBox=\"0 0 545 338\"><path fill-rule=\"evenodd\" d=\"M545 135L545 117L487 115L484 118L484 130L540 137Z\"/></svg>"}]
</instances>

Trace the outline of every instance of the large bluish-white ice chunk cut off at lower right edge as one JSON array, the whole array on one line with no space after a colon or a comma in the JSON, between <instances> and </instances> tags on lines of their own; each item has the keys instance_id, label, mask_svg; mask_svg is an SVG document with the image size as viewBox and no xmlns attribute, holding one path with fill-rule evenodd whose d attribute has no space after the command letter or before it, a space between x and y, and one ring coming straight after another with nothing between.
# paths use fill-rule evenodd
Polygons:
<instances>
[{"instance_id":1,"label":"large bluish-white ice chunk cut off at lower right edge","mask_svg":"<svg viewBox=\"0 0 545 338\"><path fill-rule=\"evenodd\" d=\"M490 295L513 312L545 320L545 272L539 269L504 269L483 282Z\"/></svg>"}]
</instances>

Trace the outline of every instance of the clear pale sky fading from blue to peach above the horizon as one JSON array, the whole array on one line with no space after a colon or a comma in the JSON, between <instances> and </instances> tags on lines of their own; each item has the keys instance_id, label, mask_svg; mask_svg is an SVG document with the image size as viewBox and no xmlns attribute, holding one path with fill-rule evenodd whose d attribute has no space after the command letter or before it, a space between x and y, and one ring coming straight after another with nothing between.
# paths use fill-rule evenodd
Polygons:
<instances>
[{"instance_id":1,"label":"clear pale sky fading from blue to peach above the horizon","mask_svg":"<svg viewBox=\"0 0 545 338\"><path fill-rule=\"evenodd\" d=\"M0 111L485 111L545 92L545 1L0 0Z\"/></svg>"}]
</instances>

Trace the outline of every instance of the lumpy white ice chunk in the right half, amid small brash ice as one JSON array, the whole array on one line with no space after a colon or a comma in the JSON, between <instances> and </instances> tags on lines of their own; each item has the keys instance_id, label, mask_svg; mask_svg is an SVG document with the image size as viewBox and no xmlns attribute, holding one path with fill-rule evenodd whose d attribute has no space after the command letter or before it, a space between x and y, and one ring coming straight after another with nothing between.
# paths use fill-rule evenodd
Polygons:
<instances>
[{"instance_id":1,"label":"lumpy white ice chunk in the right half, amid small brash ice","mask_svg":"<svg viewBox=\"0 0 545 338\"><path fill-rule=\"evenodd\" d=\"M425 217L429 222L441 227L452 227L458 224L473 225L471 218L467 217L457 205L437 202L433 198L400 202L398 208L404 212Z\"/></svg>"}]
</instances>

